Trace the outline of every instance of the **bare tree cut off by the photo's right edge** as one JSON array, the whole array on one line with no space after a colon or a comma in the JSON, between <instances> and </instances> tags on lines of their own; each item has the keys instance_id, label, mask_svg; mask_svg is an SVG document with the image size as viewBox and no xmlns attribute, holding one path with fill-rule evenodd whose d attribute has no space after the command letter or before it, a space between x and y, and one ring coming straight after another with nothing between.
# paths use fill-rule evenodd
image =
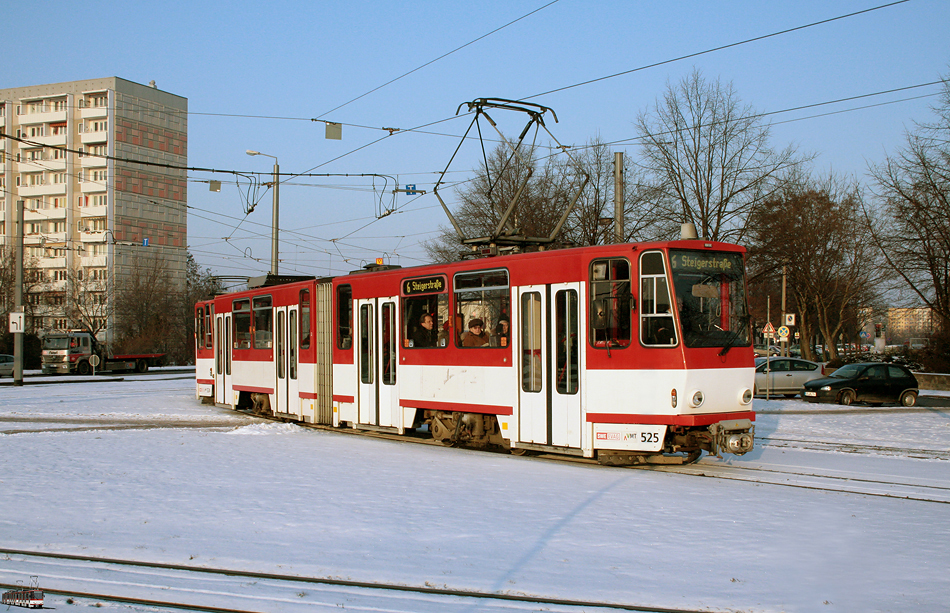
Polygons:
<instances>
[{"instance_id":1,"label":"bare tree cut off by the photo's right edge","mask_svg":"<svg viewBox=\"0 0 950 613\"><path fill-rule=\"evenodd\" d=\"M950 81L933 110L936 121L918 124L902 149L871 168L874 238L904 287L932 309L937 329L950 334Z\"/></svg>"}]
</instances>

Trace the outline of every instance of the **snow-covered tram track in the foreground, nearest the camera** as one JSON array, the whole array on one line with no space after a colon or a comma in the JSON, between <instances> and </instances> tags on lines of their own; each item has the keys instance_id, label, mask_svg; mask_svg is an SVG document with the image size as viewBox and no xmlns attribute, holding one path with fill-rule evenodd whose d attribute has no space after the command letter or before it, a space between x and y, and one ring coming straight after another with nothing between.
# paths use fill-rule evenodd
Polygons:
<instances>
[{"instance_id":1,"label":"snow-covered tram track in the foreground, nearest the camera","mask_svg":"<svg viewBox=\"0 0 950 613\"><path fill-rule=\"evenodd\" d=\"M423 585L405 585L18 549L0 549L0 555L2 562L19 565L18 574L43 577L41 589L47 596L56 594L190 611L257 613L312 610L315 606L380 610L379 607L384 606L386 611L394 613L421 609L517 612L537 611L539 607L555 613L715 613L708 608L669 608L456 589L447 585L438 587L430 581ZM82 585L101 585L107 591L79 589ZM190 602L186 602L188 599ZM212 602L215 599L217 604ZM222 600L231 604L221 606Z\"/></svg>"}]
</instances>

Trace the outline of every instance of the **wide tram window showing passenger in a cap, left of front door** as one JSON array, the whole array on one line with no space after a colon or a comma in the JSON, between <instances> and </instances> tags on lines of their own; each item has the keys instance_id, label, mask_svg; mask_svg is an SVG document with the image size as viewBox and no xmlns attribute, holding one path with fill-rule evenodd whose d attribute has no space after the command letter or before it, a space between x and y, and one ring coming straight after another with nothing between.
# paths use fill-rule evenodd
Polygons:
<instances>
[{"instance_id":1,"label":"wide tram window showing passenger in a cap, left of front door","mask_svg":"<svg viewBox=\"0 0 950 613\"><path fill-rule=\"evenodd\" d=\"M455 275L455 342L461 347L507 347L511 321L508 271L482 270ZM481 332L471 322L481 320Z\"/></svg>"}]
</instances>

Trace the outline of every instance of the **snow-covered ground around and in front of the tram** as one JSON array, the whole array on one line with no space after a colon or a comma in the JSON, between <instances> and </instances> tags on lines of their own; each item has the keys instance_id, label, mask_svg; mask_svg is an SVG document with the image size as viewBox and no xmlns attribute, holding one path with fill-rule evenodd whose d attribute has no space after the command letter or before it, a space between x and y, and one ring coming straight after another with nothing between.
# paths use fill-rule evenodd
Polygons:
<instances>
[{"instance_id":1,"label":"snow-covered ground around and in front of the tram","mask_svg":"<svg viewBox=\"0 0 950 613\"><path fill-rule=\"evenodd\" d=\"M667 608L948 610L950 409L755 409L755 451L697 467L911 480L938 501L265 423L199 404L193 380L168 373L0 387L0 547ZM0 583L31 574L48 589L113 587L0 557ZM361 608L164 580L216 606Z\"/></svg>"}]
</instances>

